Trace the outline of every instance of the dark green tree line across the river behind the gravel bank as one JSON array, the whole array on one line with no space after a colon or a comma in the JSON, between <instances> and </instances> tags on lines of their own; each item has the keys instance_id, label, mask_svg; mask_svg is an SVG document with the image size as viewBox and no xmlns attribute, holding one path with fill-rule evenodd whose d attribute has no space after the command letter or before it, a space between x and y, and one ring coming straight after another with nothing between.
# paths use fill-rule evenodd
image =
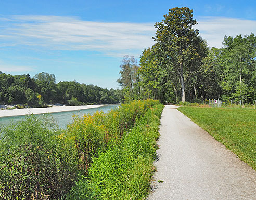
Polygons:
<instances>
[{"instance_id":1,"label":"dark green tree line across the river behind the gravel bank","mask_svg":"<svg viewBox=\"0 0 256 200\"><path fill-rule=\"evenodd\" d=\"M0 71L0 103L46 106L62 103L68 105L120 103L122 91L107 89L76 81L56 84L54 74L41 72L34 77L29 74L11 75Z\"/></svg>"}]
</instances>

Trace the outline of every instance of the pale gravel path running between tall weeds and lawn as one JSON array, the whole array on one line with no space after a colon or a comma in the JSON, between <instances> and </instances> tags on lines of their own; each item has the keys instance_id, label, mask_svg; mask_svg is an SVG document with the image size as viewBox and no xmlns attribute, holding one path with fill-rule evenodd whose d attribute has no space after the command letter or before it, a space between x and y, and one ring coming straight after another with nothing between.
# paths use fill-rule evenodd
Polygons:
<instances>
[{"instance_id":1,"label":"pale gravel path running between tall weeds and lawn","mask_svg":"<svg viewBox=\"0 0 256 200\"><path fill-rule=\"evenodd\" d=\"M162 113L148 199L256 199L256 172L175 108Z\"/></svg>"}]
</instances>

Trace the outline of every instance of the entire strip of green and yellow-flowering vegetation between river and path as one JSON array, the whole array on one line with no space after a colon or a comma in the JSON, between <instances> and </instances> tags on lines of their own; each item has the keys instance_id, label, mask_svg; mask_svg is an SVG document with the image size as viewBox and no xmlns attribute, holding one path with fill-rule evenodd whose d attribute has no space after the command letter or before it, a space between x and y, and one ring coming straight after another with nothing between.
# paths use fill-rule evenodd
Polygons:
<instances>
[{"instance_id":1,"label":"entire strip of green and yellow-flowering vegetation between river and path","mask_svg":"<svg viewBox=\"0 0 256 200\"><path fill-rule=\"evenodd\" d=\"M143 199L163 105L144 100L73 117L66 130L28 115L1 129L2 199Z\"/></svg>"}]
</instances>

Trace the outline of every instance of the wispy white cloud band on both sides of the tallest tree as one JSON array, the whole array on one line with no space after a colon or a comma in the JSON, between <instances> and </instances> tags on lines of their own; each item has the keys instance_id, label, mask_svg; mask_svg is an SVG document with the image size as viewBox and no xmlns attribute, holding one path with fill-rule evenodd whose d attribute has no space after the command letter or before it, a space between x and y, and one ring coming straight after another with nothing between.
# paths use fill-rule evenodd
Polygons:
<instances>
[{"instance_id":1,"label":"wispy white cloud band on both sides of the tallest tree","mask_svg":"<svg viewBox=\"0 0 256 200\"><path fill-rule=\"evenodd\" d=\"M223 37L256 32L256 21L200 17L195 28L209 46L221 47ZM1 24L2 23L2 24ZM1 47L28 45L56 50L98 51L107 56L139 56L155 41L155 23L93 22L77 17L16 15L0 18Z\"/></svg>"}]
</instances>

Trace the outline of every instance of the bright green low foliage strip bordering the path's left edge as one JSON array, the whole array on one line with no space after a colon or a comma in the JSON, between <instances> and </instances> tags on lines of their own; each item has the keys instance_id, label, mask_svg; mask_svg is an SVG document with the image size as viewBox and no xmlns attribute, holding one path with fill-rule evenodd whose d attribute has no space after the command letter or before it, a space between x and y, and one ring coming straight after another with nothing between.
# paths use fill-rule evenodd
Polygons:
<instances>
[{"instance_id":1,"label":"bright green low foliage strip bordering the path's left edge","mask_svg":"<svg viewBox=\"0 0 256 200\"><path fill-rule=\"evenodd\" d=\"M124 132L119 142L110 143L93 158L88 178L82 176L67 199L144 199L147 196L163 106L152 100L134 101L132 105L122 105L118 111L131 118L127 111L131 108L144 110L144 114L135 119L134 128ZM136 113L133 110L131 113ZM117 113L112 111L111 118L114 114Z\"/></svg>"}]
</instances>

